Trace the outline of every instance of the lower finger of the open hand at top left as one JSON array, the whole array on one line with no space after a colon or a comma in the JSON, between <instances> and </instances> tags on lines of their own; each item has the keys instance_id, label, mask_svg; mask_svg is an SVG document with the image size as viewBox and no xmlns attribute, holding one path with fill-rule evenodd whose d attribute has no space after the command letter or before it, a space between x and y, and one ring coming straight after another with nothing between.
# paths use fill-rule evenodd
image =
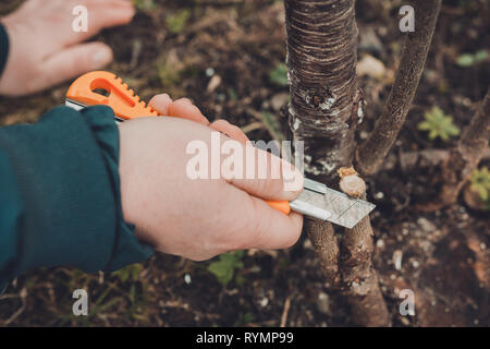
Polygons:
<instances>
[{"instance_id":1,"label":"lower finger of the open hand at top left","mask_svg":"<svg viewBox=\"0 0 490 349\"><path fill-rule=\"evenodd\" d=\"M99 70L112 61L112 50L102 43L81 44L59 51L41 63L42 72L33 82L36 89L61 83L88 71Z\"/></svg>"}]
</instances>

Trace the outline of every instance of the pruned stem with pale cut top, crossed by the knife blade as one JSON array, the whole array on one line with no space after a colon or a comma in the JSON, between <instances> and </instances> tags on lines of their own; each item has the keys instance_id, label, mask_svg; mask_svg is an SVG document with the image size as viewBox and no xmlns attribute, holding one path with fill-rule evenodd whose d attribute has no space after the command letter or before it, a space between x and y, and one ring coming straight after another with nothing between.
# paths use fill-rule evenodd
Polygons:
<instances>
[{"instance_id":1,"label":"pruned stem with pale cut top, crossed by the knife blade","mask_svg":"<svg viewBox=\"0 0 490 349\"><path fill-rule=\"evenodd\" d=\"M351 179L350 190L344 192L366 200L364 180L356 174L342 180L346 179ZM340 260L342 289L351 305L352 316L358 325L390 326L390 315L379 288L378 274L371 262L373 251L373 233L369 216L353 229L345 229Z\"/></svg>"}]
</instances>

